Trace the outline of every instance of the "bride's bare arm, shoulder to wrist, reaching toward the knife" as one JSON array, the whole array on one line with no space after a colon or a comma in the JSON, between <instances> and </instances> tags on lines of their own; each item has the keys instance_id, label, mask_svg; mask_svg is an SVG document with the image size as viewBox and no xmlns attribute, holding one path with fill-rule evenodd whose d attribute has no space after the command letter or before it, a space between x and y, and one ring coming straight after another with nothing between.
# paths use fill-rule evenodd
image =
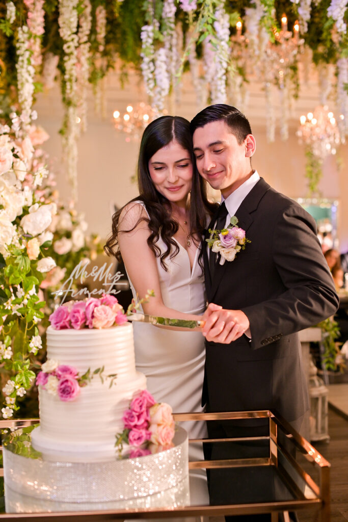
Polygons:
<instances>
[{"instance_id":1,"label":"bride's bare arm, shoulder to wrist, reaching toward the knife","mask_svg":"<svg viewBox=\"0 0 348 522\"><path fill-rule=\"evenodd\" d=\"M169 308L163 303L157 260L147 244L147 239L150 235L147 222L140 221L131 232L122 232L122 230L133 229L142 217L147 218L147 213L138 203L130 203L125 207L118 223L118 244L128 276L139 298L145 296L148 290L154 291L155 296L151 297L148 303L142 304L143 311L146 314L160 317L195 319L199 321L202 316L185 314Z\"/></svg>"}]
</instances>

